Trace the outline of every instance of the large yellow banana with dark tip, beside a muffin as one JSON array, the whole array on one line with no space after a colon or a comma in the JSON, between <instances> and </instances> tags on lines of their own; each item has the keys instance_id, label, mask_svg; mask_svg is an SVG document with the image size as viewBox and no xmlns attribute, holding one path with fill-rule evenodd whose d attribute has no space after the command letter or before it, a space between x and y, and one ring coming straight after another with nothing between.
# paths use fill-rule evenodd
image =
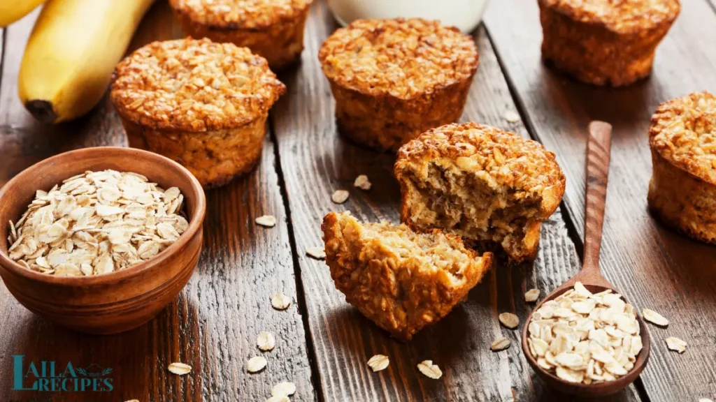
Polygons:
<instances>
[{"instance_id":1,"label":"large yellow banana with dark tip, beside a muffin","mask_svg":"<svg viewBox=\"0 0 716 402\"><path fill-rule=\"evenodd\" d=\"M50 0L20 64L25 108L42 122L58 123L95 107L153 1Z\"/></svg>"}]
</instances>

